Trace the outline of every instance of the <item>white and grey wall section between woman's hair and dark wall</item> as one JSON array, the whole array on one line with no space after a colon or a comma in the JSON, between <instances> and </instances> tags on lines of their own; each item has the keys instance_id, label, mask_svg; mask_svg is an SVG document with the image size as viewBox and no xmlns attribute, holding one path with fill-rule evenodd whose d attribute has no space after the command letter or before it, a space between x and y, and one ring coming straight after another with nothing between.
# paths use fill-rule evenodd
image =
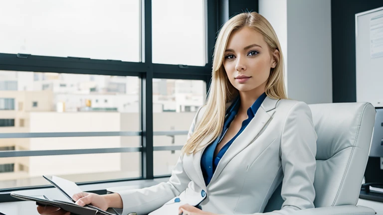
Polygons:
<instances>
[{"instance_id":1,"label":"white and grey wall section between woman's hair and dark wall","mask_svg":"<svg viewBox=\"0 0 383 215\"><path fill-rule=\"evenodd\" d=\"M285 57L287 94L307 104L331 103L330 0L259 0Z\"/></svg>"}]
</instances>

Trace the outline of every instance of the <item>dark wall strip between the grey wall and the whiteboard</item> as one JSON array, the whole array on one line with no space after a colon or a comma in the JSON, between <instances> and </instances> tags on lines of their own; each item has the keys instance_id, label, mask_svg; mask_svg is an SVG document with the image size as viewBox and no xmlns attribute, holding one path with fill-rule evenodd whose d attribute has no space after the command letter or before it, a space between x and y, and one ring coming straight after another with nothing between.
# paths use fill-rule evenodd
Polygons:
<instances>
[{"instance_id":1,"label":"dark wall strip between the grey wall and the whiteboard","mask_svg":"<svg viewBox=\"0 0 383 215\"><path fill-rule=\"evenodd\" d=\"M333 102L356 102L355 14L383 6L382 0L332 0Z\"/></svg>"}]
</instances>

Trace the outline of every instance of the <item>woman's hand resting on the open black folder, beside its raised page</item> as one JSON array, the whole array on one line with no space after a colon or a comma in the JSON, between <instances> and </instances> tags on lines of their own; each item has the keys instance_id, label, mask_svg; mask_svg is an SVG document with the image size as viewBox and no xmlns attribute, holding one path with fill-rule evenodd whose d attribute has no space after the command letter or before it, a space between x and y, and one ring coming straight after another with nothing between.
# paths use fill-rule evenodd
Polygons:
<instances>
[{"instance_id":1,"label":"woman's hand resting on the open black folder, beside its raised page","mask_svg":"<svg viewBox=\"0 0 383 215\"><path fill-rule=\"evenodd\" d=\"M78 193L73 195L72 197L76 204L79 206L92 205L103 211L108 210L109 206L104 198L104 196L100 196L93 193Z\"/></svg>"}]
</instances>

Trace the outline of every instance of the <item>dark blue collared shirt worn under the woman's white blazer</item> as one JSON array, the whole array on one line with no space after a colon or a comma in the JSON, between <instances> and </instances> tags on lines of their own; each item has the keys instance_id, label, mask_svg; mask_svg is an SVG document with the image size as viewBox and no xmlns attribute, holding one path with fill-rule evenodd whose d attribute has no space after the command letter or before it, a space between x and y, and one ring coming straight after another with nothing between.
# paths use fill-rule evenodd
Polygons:
<instances>
[{"instance_id":1,"label":"dark blue collared shirt worn under the woman's white blazer","mask_svg":"<svg viewBox=\"0 0 383 215\"><path fill-rule=\"evenodd\" d=\"M217 156L214 156L215 148L217 147L218 143L222 140L222 138L226 134L226 131L230 126L230 123L233 121L235 115L238 113L239 105L241 104L240 98L239 97L236 98L234 102L231 104L231 106L227 108L222 133L210 145L208 145L202 153L201 170L202 170L202 175L203 175L203 179L205 181L206 186L210 183L210 180L213 176L213 173L215 172L215 168L217 167L219 160L225 154L225 152L233 143L235 138L237 138L237 136L239 136L239 134L242 133L242 131L246 128L246 126L249 124L251 119L254 118L255 113L257 112L258 108L261 106L265 98L266 98L266 94L263 93L253 103L253 105L247 109L248 117L247 119L243 120L242 126L239 129L238 133L235 134L235 136L219 150Z\"/></svg>"}]
</instances>

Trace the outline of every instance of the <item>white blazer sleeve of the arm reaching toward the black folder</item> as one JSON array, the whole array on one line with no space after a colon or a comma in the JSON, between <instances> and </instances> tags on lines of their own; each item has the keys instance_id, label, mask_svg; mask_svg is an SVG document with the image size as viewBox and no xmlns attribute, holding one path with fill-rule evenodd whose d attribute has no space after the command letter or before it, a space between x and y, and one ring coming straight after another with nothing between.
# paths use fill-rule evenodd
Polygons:
<instances>
[{"instance_id":1,"label":"white blazer sleeve of the arm reaching toward the black folder","mask_svg":"<svg viewBox=\"0 0 383 215\"><path fill-rule=\"evenodd\" d=\"M192 121L192 125L188 133L188 139L194 131L199 111L200 109L197 111ZM191 179L184 171L183 155L181 155L168 182L163 182L143 189L122 190L116 192L122 199L122 215L127 215L132 212L136 212L139 215L149 214L150 212L162 207L172 198L180 195L188 187L190 181Z\"/></svg>"}]
</instances>

